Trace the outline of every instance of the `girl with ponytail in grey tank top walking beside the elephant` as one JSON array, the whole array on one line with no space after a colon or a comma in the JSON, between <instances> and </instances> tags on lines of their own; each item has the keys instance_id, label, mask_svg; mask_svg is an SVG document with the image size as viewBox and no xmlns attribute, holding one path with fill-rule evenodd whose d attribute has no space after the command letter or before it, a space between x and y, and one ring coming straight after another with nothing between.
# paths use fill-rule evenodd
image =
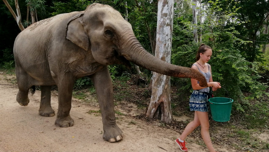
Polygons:
<instances>
[{"instance_id":1,"label":"girl with ponytail in grey tank top walking beside the elephant","mask_svg":"<svg viewBox=\"0 0 269 152\"><path fill-rule=\"evenodd\" d=\"M196 54L196 62L192 65L192 68L201 72L207 81L207 85L212 87L213 91L221 88L219 82L213 82L211 74L211 66L207 64L212 55L212 50L209 46L201 44ZM176 139L176 143L182 151L188 151L185 147L185 138L198 126L201 126L201 135L206 144L206 147L210 152L215 152L212 146L209 135L209 121L208 110L209 102L207 101L207 95L203 92L209 92L209 87L201 87L199 81L191 79L193 92L189 101L190 110L194 112L194 120L190 122L181 136Z\"/></svg>"}]
</instances>

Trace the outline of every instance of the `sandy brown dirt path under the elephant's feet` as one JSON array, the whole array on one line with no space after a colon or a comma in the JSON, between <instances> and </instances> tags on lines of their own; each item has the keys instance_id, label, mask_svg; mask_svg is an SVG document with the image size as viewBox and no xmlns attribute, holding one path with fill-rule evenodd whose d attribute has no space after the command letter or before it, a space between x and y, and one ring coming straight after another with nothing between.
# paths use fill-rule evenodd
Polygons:
<instances>
[{"instance_id":1,"label":"sandy brown dirt path under the elephant's feet","mask_svg":"<svg viewBox=\"0 0 269 152\"><path fill-rule=\"evenodd\" d=\"M56 127L55 116L38 114L41 92L36 91L33 96L29 94L29 105L20 106L16 102L17 85L6 81L7 77L14 79L15 76L0 74L0 151L181 151L173 140L178 136L177 132L129 116L117 116L118 126L125 134L123 140L115 143L104 141L101 115L87 113L99 110L98 106L86 105L77 99L72 100L70 111L74 126ZM51 102L57 113L57 93L52 93ZM135 105L128 107L133 107L132 112L136 112ZM195 143L187 146L189 152L205 151Z\"/></svg>"}]
</instances>

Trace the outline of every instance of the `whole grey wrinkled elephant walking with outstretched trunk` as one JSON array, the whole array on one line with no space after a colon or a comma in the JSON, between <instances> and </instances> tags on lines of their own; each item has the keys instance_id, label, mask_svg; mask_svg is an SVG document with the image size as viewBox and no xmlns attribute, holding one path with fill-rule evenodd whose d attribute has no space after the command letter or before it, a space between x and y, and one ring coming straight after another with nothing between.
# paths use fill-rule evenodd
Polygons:
<instances>
[{"instance_id":1,"label":"whole grey wrinkled elephant walking with outstretched trunk","mask_svg":"<svg viewBox=\"0 0 269 152\"><path fill-rule=\"evenodd\" d=\"M17 102L27 106L29 88L40 85L39 114L54 116L50 90L57 85L58 127L74 125L70 117L74 82L90 76L102 111L103 138L109 142L121 140L124 134L115 120L107 65L130 66L131 61L157 73L195 78L201 86L207 86L198 71L168 64L149 54L136 39L131 25L108 5L92 4L82 12L60 14L34 23L17 36L13 52L19 87Z\"/></svg>"}]
</instances>

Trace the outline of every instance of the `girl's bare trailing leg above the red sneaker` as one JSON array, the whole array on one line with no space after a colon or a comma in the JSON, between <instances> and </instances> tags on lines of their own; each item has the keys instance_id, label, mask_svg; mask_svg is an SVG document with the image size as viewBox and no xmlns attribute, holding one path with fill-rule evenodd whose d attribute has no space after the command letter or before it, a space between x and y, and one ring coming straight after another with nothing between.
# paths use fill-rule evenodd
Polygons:
<instances>
[{"instance_id":1,"label":"girl's bare trailing leg above the red sneaker","mask_svg":"<svg viewBox=\"0 0 269 152\"><path fill-rule=\"evenodd\" d=\"M196 127L200 125L197 111L194 112L194 119L192 122L188 123L188 125L185 127L183 133L179 137L180 140L185 140L185 138L193 131Z\"/></svg>"}]
</instances>

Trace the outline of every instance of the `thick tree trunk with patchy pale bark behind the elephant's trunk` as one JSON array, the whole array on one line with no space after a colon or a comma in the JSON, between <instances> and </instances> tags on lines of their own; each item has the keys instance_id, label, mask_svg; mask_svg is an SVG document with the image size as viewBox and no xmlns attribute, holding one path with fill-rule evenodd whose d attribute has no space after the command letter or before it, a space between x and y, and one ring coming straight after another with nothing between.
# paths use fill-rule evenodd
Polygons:
<instances>
[{"instance_id":1,"label":"thick tree trunk with patchy pale bark behind the elephant's trunk","mask_svg":"<svg viewBox=\"0 0 269 152\"><path fill-rule=\"evenodd\" d=\"M173 30L173 0L158 1L156 54L155 56L170 63L172 30ZM173 121L170 101L170 76L153 72L152 95L146 115L152 119L171 123Z\"/></svg>"}]
</instances>

